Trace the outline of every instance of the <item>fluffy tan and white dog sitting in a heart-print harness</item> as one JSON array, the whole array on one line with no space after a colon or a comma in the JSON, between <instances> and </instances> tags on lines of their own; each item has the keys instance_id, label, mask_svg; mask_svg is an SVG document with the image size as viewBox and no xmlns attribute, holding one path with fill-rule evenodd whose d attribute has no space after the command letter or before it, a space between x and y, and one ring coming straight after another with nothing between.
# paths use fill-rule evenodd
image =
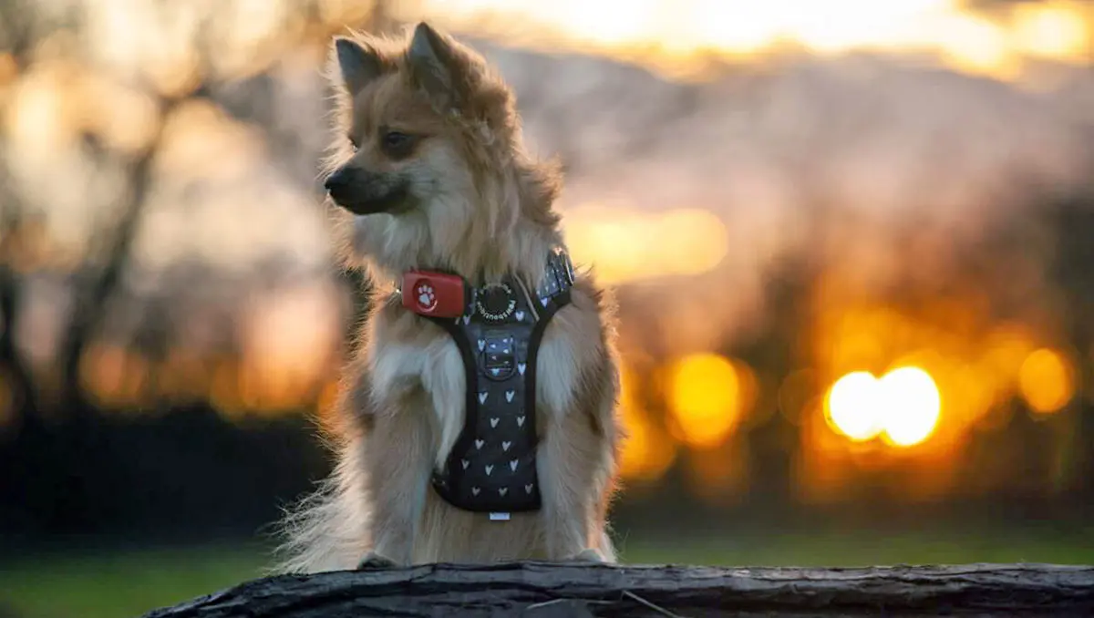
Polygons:
<instances>
[{"instance_id":1,"label":"fluffy tan and white dog sitting in a heart-print harness","mask_svg":"<svg viewBox=\"0 0 1094 618\"><path fill-rule=\"evenodd\" d=\"M286 517L280 570L616 562L615 304L566 255L560 166L527 153L484 57L426 23L334 37L328 79L325 203L373 296L327 428L335 469ZM430 315L439 301L455 312Z\"/></svg>"}]
</instances>

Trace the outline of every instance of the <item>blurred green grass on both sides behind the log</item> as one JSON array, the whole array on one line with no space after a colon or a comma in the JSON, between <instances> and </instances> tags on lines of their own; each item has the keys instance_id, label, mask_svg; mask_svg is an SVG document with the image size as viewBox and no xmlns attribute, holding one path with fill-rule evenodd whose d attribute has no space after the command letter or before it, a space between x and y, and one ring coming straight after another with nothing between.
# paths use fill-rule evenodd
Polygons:
<instances>
[{"instance_id":1,"label":"blurred green grass on both sides behind the log","mask_svg":"<svg viewBox=\"0 0 1094 618\"><path fill-rule=\"evenodd\" d=\"M619 539L629 563L861 565L954 562L1094 564L1092 530L748 534ZM3 606L18 618L127 618L261 575L258 545L48 553L0 565Z\"/></svg>"}]
</instances>

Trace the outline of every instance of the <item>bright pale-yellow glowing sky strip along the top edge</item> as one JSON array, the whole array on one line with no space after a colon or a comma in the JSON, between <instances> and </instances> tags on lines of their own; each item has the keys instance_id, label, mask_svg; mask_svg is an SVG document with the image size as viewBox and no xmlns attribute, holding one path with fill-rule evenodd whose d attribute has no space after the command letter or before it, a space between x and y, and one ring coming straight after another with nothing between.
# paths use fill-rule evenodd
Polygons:
<instances>
[{"instance_id":1,"label":"bright pale-yellow glowing sky strip along the top edge","mask_svg":"<svg viewBox=\"0 0 1094 618\"><path fill-rule=\"evenodd\" d=\"M928 51L955 69L1002 79L1013 78L1027 56L1090 61L1094 18L1082 2L1015 4L993 16L961 0L418 0L396 11L522 44L640 57L684 72L689 57L753 55L785 44L815 54Z\"/></svg>"}]
</instances>

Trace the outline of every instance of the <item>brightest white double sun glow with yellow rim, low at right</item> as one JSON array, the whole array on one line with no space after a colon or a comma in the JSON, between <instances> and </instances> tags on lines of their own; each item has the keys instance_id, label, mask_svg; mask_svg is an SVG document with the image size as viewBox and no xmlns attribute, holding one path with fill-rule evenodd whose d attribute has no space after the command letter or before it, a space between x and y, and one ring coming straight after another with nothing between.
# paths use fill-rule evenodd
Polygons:
<instances>
[{"instance_id":1,"label":"brightest white double sun glow with yellow rim, low at right","mask_svg":"<svg viewBox=\"0 0 1094 618\"><path fill-rule=\"evenodd\" d=\"M926 441L938 425L942 397L926 371L906 366L880 380L857 371L833 384L825 400L834 429L856 442L883 435L897 446Z\"/></svg>"}]
</instances>

